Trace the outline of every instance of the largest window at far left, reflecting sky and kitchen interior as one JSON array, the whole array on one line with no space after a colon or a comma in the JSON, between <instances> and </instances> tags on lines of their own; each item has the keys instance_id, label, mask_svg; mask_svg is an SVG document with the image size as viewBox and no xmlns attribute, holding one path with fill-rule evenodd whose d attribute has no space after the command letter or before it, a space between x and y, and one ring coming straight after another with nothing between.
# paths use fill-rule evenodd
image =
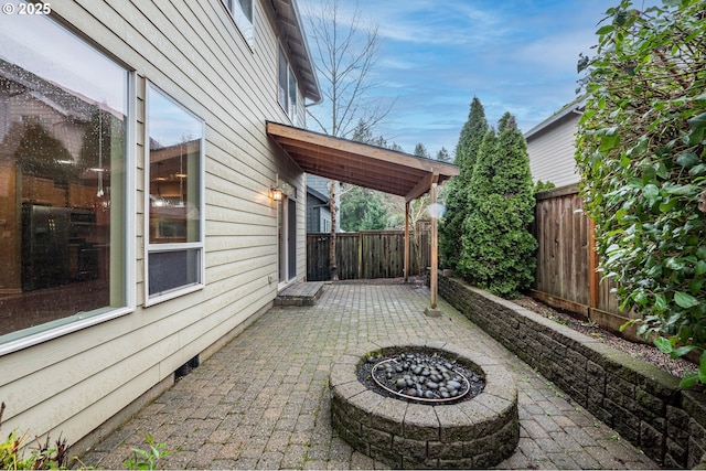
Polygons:
<instances>
[{"instance_id":1,"label":"largest window at far left, reflecting sky and kitchen interior","mask_svg":"<svg viewBox=\"0 0 706 471\"><path fill-rule=\"evenodd\" d=\"M129 78L50 17L0 15L0 353L128 311Z\"/></svg>"}]
</instances>

